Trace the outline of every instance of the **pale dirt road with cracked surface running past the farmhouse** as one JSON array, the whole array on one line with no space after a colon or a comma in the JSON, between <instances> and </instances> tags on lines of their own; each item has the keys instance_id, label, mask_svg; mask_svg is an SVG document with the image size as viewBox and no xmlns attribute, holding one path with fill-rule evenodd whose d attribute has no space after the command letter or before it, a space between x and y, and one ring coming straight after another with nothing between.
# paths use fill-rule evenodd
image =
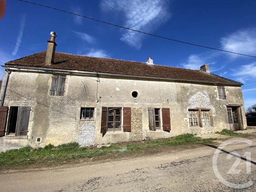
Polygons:
<instances>
[{"instance_id":1,"label":"pale dirt road with cracked surface running past the farmhouse","mask_svg":"<svg viewBox=\"0 0 256 192\"><path fill-rule=\"evenodd\" d=\"M233 184L251 181L252 186L234 189L222 184L214 174L212 157L216 143L200 148L141 156L111 162L87 162L57 168L0 171L2 192L76 192L76 191L256 191L256 138L251 145L230 143L221 151L217 166L220 175ZM232 152L231 156L228 153ZM245 156L227 174L236 156L251 153L251 163ZM236 154L237 153L237 154ZM247 169L247 172L246 172Z\"/></svg>"}]
</instances>

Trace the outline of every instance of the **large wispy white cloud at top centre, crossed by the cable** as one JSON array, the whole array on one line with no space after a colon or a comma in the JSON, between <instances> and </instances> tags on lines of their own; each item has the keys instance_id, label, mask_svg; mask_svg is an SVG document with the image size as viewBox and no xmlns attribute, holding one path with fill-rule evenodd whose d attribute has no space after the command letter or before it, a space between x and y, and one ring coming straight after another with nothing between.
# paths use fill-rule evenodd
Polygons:
<instances>
[{"instance_id":1,"label":"large wispy white cloud at top centre, crossed by the cable","mask_svg":"<svg viewBox=\"0 0 256 192\"><path fill-rule=\"evenodd\" d=\"M170 18L166 0L102 0L105 11L121 11L124 14L124 26L135 30L151 32ZM139 49L143 34L131 30L121 30L120 40Z\"/></svg>"}]
</instances>

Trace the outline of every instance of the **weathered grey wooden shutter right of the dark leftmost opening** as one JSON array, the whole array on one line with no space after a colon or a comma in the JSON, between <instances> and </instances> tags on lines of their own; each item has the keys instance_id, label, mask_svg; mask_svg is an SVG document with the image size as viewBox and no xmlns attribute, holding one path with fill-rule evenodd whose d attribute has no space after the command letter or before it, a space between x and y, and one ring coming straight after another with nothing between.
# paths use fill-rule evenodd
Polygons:
<instances>
[{"instance_id":1,"label":"weathered grey wooden shutter right of the dark leftmost opening","mask_svg":"<svg viewBox=\"0 0 256 192\"><path fill-rule=\"evenodd\" d=\"M31 107L19 107L18 109L18 119L16 125L16 136L26 136L28 135L28 122L30 116Z\"/></svg>"}]
</instances>

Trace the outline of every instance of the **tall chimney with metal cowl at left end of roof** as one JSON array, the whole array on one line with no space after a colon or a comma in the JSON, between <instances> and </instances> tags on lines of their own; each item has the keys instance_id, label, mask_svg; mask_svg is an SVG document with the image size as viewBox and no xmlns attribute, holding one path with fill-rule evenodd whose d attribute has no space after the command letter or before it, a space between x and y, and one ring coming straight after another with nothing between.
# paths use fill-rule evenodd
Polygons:
<instances>
[{"instance_id":1,"label":"tall chimney with metal cowl at left end of roof","mask_svg":"<svg viewBox=\"0 0 256 192\"><path fill-rule=\"evenodd\" d=\"M57 46L55 42L55 38L57 36L56 32L51 32L51 39L48 40L47 50L46 50L46 58L45 58L45 65L51 66L54 63L54 54L55 54L55 47Z\"/></svg>"}]
</instances>

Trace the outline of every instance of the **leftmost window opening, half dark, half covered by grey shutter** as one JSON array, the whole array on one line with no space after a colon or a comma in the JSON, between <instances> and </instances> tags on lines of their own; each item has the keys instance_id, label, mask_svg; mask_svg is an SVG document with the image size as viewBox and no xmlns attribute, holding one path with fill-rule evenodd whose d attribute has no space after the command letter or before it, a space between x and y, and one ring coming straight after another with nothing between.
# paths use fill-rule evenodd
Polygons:
<instances>
[{"instance_id":1,"label":"leftmost window opening, half dark, half covered by grey shutter","mask_svg":"<svg viewBox=\"0 0 256 192\"><path fill-rule=\"evenodd\" d=\"M28 135L28 123L31 107L10 107L6 135Z\"/></svg>"}]
</instances>

